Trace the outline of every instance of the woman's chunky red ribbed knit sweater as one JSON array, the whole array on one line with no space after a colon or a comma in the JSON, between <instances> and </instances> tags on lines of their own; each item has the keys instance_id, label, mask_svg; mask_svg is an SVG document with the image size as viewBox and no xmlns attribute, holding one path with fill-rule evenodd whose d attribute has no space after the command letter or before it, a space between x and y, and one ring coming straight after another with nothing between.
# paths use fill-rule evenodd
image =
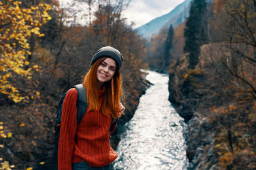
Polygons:
<instances>
[{"instance_id":1,"label":"woman's chunky red ribbed knit sweater","mask_svg":"<svg viewBox=\"0 0 256 170\"><path fill-rule=\"evenodd\" d=\"M99 90L100 106L104 90ZM68 90L63 103L61 130L59 139L58 167L72 169L72 163L85 160L92 167L111 164L116 152L109 143L111 117L104 116L100 106L96 111L86 111L83 120L77 127L77 90ZM115 131L116 121L110 132Z\"/></svg>"}]
</instances>

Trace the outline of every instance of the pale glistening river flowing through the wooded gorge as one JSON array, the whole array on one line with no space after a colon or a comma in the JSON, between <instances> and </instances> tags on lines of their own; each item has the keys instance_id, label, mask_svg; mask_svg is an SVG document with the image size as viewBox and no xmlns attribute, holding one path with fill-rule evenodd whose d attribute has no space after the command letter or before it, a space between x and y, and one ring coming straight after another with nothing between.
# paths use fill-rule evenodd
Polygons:
<instances>
[{"instance_id":1,"label":"pale glistening river flowing through the wooded gorge","mask_svg":"<svg viewBox=\"0 0 256 170\"><path fill-rule=\"evenodd\" d=\"M153 83L125 124L113 169L187 169L184 119L168 101L168 76L148 71Z\"/></svg>"}]
</instances>

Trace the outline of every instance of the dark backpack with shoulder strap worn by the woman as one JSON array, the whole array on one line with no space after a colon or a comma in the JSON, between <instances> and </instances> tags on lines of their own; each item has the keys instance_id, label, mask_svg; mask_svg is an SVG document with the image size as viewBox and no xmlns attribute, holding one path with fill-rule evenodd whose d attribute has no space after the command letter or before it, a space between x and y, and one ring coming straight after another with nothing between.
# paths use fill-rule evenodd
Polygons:
<instances>
[{"instance_id":1,"label":"dark backpack with shoulder strap worn by the woman","mask_svg":"<svg viewBox=\"0 0 256 170\"><path fill-rule=\"evenodd\" d=\"M84 117L84 114L87 110L87 97L86 97L86 89L83 84L75 85L72 88L76 88L77 90L77 125L81 122ZM67 92L62 94L61 99L57 106L57 114L56 114L56 124L55 124L55 145L54 145L54 160L58 161L58 145L60 138L60 125L61 125L61 115L62 115L62 106L63 101L65 99Z\"/></svg>"}]
</instances>

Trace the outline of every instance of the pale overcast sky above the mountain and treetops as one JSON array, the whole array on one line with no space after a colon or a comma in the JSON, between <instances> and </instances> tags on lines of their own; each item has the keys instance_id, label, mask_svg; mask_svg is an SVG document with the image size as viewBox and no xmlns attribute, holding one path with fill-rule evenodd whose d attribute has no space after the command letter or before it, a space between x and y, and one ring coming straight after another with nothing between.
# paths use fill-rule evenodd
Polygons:
<instances>
[{"instance_id":1,"label":"pale overcast sky above the mountain and treetops","mask_svg":"<svg viewBox=\"0 0 256 170\"><path fill-rule=\"evenodd\" d=\"M61 4L72 3L73 0L59 0ZM131 0L128 8L123 11L123 17L127 18L127 24L134 22L133 28L147 24L150 20L172 11L185 0ZM84 7L76 6L83 13ZM77 14L78 15L78 14ZM83 15L83 14L81 14Z\"/></svg>"}]
</instances>

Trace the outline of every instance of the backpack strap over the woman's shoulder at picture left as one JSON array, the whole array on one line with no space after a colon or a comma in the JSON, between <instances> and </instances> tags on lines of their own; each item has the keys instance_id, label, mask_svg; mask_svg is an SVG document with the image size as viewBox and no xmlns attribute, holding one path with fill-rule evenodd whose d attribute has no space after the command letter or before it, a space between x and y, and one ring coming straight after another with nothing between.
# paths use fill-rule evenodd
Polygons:
<instances>
[{"instance_id":1,"label":"backpack strap over the woman's shoulder at picture left","mask_svg":"<svg viewBox=\"0 0 256 170\"><path fill-rule=\"evenodd\" d=\"M77 125L81 122L87 110L86 89L83 84L74 86L77 90Z\"/></svg>"}]
</instances>

